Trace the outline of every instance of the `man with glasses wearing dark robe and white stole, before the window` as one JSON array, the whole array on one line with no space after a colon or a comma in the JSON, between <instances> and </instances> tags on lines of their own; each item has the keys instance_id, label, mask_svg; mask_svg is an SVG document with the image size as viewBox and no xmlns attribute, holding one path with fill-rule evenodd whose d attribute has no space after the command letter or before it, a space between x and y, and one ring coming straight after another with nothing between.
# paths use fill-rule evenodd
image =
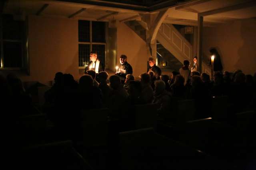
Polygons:
<instances>
[{"instance_id":1,"label":"man with glasses wearing dark robe and white stole, before the window","mask_svg":"<svg viewBox=\"0 0 256 170\"><path fill-rule=\"evenodd\" d=\"M96 74L98 74L101 71L105 71L103 64L98 59L98 53L96 51L90 52L90 63L84 70L85 74L87 70L94 70Z\"/></svg>"}]
</instances>

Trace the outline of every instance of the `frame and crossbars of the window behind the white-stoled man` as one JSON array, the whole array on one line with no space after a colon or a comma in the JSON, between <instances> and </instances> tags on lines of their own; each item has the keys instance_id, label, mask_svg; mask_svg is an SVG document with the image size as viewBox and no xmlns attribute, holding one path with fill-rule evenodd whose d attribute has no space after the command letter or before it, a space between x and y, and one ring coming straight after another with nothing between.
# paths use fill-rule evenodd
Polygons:
<instances>
[{"instance_id":1,"label":"frame and crossbars of the window behind the white-stoled man","mask_svg":"<svg viewBox=\"0 0 256 170\"><path fill-rule=\"evenodd\" d=\"M79 21L79 20L78 20ZM88 20L86 20L88 21ZM107 37L107 24L106 22L105 23L105 37ZM89 44L90 45L90 51L92 51L92 45L105 45L105 63L104 63L104 67L106 67L106 48L107 48L107 43L94 43L92 42L92 21L90 21L90 42L79 42L79 39L78 39L78 45L79 44ZM78 51L78 68L79 69L84 69L86 66L79 66L79 51Z\"/></svg>"}]
</instances>

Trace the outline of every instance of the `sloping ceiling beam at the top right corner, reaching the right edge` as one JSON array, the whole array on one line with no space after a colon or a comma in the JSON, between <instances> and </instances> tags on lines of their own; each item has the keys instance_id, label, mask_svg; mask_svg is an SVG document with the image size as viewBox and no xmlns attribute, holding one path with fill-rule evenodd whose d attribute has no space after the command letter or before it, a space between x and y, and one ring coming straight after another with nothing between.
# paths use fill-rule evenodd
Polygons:
<instances>
[{"instance_id":1,"label":"sloping ceiling beam at the top right corner, reaching the right edge","mask_svg":"<svg viewBox=\"0 0 256 170\"><path fill-rule=\"evenodd\" d=\"M249 2L241 3L241 4L236 4L236 5L232 5L232 6L227 6L227 7L224 7L224 8L219 8L219 9L216 9L216 10L201 12L201 13L199 13L199 15L200 16L210 16L210 15L224 13L224 12L241 10L243 8L249 8L249 7L252 7L252 6L256 6L256 0L252 0L252 1L249 1Z\"/></svg>"}]
</instances>

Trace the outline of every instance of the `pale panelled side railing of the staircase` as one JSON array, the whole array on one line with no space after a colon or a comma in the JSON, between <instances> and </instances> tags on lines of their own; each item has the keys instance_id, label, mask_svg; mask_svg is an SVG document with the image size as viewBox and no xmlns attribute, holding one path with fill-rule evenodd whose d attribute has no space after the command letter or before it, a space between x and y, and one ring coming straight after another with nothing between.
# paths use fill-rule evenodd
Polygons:
<instances>
[{"instance_id":1,"label":"pale panelled side railing of the staircase","mask_svg":"<svg viewBox=\"0 0 256 170\"><path fill-rule=\"evenodd\" d=\"M192 61L193 47L192 45L179 33L179 31L168 23L162 23L158 30L157 40L169 50L181 63L184 60ZM210 75L210 67L202 62L202 72Z\"/></svg>"}]
</instances>

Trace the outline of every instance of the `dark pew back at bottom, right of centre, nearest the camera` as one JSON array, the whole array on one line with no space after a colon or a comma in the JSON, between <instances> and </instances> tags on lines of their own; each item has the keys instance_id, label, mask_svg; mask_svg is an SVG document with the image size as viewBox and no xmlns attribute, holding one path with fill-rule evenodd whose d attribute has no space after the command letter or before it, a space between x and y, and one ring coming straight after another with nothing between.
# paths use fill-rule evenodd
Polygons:
<instances>
[{"instance_id":1,"label":"dark pew back at bottom, right of centre, nearest the camera","mask_svg":"<svg viewBox=\"0 0 256 170\"><path fill-rule=\"evenodd\" d=\"M119 169L225 169L211 156L159 135L153 128L122 132L119 138L120 156L115 160Z\"/></svg>"}]
</instances>

